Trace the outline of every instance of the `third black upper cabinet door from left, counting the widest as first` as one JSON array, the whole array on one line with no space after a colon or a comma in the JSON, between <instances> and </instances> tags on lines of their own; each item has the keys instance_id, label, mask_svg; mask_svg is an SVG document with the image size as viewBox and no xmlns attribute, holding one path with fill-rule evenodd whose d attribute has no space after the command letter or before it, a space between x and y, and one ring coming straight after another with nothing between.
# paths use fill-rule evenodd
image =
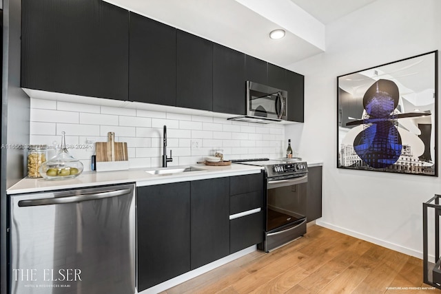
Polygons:
<instances>
[{"instance_id":1,"label":"third black upper cabinet door from left, counting the widest as first","mask_svg":"<svg viewBox=\"0 0 441 294\"><path fill-rule=\"evenodd\" d=\"M176 106L213 109L213 43L176 32Z\"/></svg>"}]
</instances>

